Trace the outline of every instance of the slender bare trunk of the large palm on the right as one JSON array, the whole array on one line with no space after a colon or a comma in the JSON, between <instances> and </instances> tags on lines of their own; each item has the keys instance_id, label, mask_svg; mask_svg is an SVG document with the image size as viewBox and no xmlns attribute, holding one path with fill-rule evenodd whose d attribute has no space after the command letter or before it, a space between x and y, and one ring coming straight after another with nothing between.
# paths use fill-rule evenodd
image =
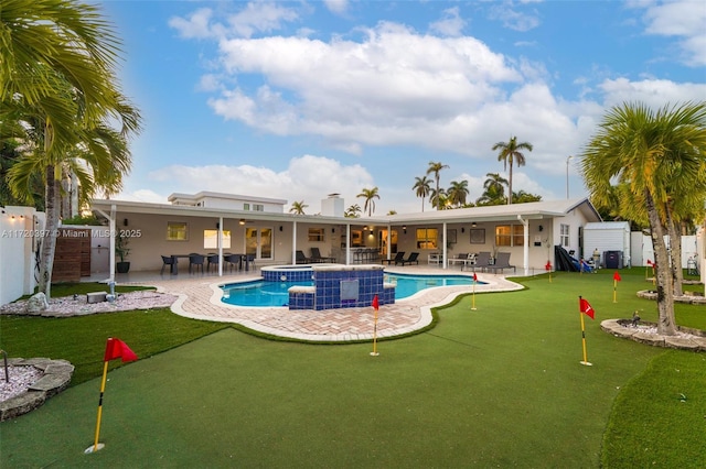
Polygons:
<instances>
[{"instance_id":1,"label":"slender bare trunk of the large palm on the right","mask_svg":"<svg viewBox=\"0 0 706 469\"><path fill-rule=\"evenodd\" d=\"M644 190L644 199L648 208L650 227L652 228L652 244L654 247L655 276L657 284L657 332L664 336L676 334L676 321L674 318L674 290L672 285L672 273L670 268L670 254L664 242L664 227L654 205L654 199L649 189Z\"/></svg>"}]
</instances>

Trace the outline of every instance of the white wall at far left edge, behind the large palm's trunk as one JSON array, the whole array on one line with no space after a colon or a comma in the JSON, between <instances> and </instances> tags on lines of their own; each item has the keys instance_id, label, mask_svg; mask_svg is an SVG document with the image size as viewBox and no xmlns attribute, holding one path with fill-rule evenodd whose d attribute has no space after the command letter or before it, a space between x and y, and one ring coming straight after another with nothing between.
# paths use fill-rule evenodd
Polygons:
<instances>
[{"instance_id":1,"label":"white wall at far left edge, behind the large palm's trunk","mask_svg":"<svg viewBox=\"0 0 706 469\"><path fill-rule=\"evenodd\" d=\"M0 305L34 292L36 234L43 229L44 214L32 207L0 210Z\"/></svg>"}]
</instances>

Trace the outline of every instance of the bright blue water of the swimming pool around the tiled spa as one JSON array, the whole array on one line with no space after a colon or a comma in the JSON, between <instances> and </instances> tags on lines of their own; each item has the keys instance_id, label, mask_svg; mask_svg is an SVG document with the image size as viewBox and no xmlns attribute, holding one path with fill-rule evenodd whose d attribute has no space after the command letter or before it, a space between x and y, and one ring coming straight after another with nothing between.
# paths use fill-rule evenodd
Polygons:
<instances>
[{"instance_id":1,"label":"bright blue water of the swimming pool around the tiled spa","mask_svg":"<svg viewBox=\"0 0 706 469\"><path fill-rule=\"evenodd\" d=\"M402 299L434 286L472 285L473 279L464 275L385 274L385 282L397 284L395 299ZM222 286L223 297L221 301L236 306L287 306L289 287L295 285L311 286L313 282L232 283Z\"/></svg>"}]
</instances>

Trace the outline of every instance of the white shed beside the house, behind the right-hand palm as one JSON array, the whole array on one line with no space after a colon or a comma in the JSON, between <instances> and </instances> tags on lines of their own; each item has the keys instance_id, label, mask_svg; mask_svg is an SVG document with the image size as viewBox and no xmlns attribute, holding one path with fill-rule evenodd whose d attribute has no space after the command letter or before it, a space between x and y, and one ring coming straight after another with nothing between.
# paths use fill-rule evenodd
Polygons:
<instances>
[{"instance_id":1,"label":"white shed beside the house, behind the right-hand palm","mask_svg":"<svg viewBox=\"0 0 706 469\"><path fill-rule=\"evenodd\" d=\"M601 221L584 227L584 253L586 258L600 254L600 266L622 269L630 266L630 223L628 221Z\"/></svg>"}]
</instances>

